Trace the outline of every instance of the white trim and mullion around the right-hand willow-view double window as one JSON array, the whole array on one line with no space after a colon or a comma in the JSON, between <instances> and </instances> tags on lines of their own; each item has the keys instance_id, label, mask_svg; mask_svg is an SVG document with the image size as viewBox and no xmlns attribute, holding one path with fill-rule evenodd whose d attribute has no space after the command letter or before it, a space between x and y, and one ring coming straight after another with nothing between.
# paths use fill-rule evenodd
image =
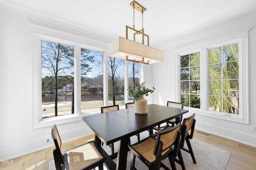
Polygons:
<instances>
[{"instance_id":1,"label":"white trim and mullion around the right-hand willow-view double window","mask_svg":"<svg viewBox=\"0 0 256 170\"><path fill-rule=\"evenodd\" d=\"M200 97L201 108L196 109L192 107L185 107L190 112L195 112L198 115L207 117L214 117L227 121L234 121L238 123L249 124L249 105L248 105L248 32L251 28L240 28L226 31L218 35L210 36L208 39L198 40L187 46L180 46L174 49L175 57L175 100L180 101L180 59L184 54L193 53L200 49ZM240 41L239 46L239 82L240 82L240 115L230 115L208 111L208 60L207 49L218 46L220 44L227 44L230 42ZM225 43L224 43L225 42ZM199 47L199 48L198 48ZM194 49L194 50L193 50ZM242 56L242 57L241 57Z\"/></svg>"}]
</instances>

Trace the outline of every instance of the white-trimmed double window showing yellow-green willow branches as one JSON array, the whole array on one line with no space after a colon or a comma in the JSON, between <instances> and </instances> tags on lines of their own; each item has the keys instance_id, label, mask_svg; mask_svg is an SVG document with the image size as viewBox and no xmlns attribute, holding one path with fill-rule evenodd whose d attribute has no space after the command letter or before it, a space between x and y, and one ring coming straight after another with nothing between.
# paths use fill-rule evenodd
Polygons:
<instances>
[{"instance_id":1,"label":"white-trimmed double window showing yellow-green willow branches","mask_svg":"<svg viewBox=\"0 0 256 170\"><path fill-rule=\"evenodd\" d=\"M176 101L199 115L249 123L248 31L235 29L177 47Z\"/></svg>"}]
</instances>

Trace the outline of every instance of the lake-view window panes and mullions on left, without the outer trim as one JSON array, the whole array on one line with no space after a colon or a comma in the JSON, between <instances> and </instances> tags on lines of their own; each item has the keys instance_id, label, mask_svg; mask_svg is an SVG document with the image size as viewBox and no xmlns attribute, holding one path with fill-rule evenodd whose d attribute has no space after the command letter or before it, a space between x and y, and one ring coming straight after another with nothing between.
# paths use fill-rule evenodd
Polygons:
<instances>
[{"instance_id":1,"label":"lake-view window panes and mullions on left, without the outer trim","mask_svg":"<svg viewBox=\"0 0 256 170\"><path fill-rule=\"evenodd\" d=\"M125 96L125 79L132 88L140 82L138 63L126 63L113 57L104 61L103 51L63 43L58 39L48 41L48 38L42 38L40 41L42 88L38 96L42 96L42 116L39 119L98 113L104 105L118 104L122 108L125 101L129 101ZM125 64L127 75L124 74ZM104 65L107 70L104 70ZM80 86L76 85L77 82Z\"/></svg>"}]
</instances>

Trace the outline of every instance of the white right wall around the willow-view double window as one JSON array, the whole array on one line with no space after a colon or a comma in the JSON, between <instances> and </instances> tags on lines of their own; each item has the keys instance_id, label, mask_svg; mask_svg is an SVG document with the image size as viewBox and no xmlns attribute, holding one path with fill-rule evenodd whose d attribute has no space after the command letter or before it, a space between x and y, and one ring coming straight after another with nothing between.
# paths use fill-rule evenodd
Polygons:
<instances>
[{"instance_id":1,"label":"white right wall around the willow-view double window","mask_svg":"<svg viewBox=\"0 0 256 170\"><path fill-rule=\"evenodd\" d=\"M206 131L215 135L219 135L234 141L245 143L256 147L256 132L252 132L252 125L256 125L256 113L254 111L254 104L256 98L254 97L255 89L255 72L256 72L256 21L255 14L250 16L243 16L235 18L234 20L226 21L222 25L215 25L212 30L204 31L207 34L198 33L198 36L193 38L188 37L188 41L185 39L183 42L172 43L170 47L166 47L164 62L154 64L153 77L154 86L156 87L156 94L154 94L154 103L166 105L167 101L176 101L175 91L175 51L176 49L196 50L203 46L207 40L211 41L217 37L222 38L220 35L225 35L225 32L235 30L243 27L251 27L248 37L249 48L249 124L236 123L233 121L226 121L222 119L216 119L212 117L206 117L204 115L196 115L196 129ZM249 20L250 19L250 20ZM245 21L247 23L245 23ZM207 37L207 38L206 38ZM215 39L216 40L216 39ZM214 42L214 41L213 41ZM225 42L225 41L224 41ZM222 42L222 43L224 43ZM214 44L212 44L214 45ZM183 51L186 52L186 51ZM202 87L201 87L202 88ZM205 94L201 94L205 95ZM192 111L191 111L192 113ZM187 113L186 115L190 115ZM185 115L185 117L186 117Z\"/></svg>"}]
</instances>

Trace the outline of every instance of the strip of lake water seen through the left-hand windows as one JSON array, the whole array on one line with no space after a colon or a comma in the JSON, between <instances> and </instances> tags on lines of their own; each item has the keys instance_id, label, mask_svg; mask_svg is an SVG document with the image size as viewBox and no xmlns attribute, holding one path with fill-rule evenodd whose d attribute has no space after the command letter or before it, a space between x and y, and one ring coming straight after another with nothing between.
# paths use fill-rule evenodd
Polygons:
<instances>
[{"instance_id":1,"label":"strip of lake water seen through the left-hand windows","mask_svg":"<svg viewBox=\"0 0 256 170\"><path fill-rule=\"evenodd\" d=\"M124 95L117 94L116 95L116 101L118 100L124 100ZM102 100L102 97L100 95L83 95L81 96L81 102L86 101L94 101L94 100ZM108 100L112 100L112 96L108 96ZM46 102L54 102L54 96L42 96L42 103ZM71 102L72 96L68 96L66 98L66 102ZM58 97L58 102L65 102L65 99L61 96Z\"/></svg>"}]
</instances>

